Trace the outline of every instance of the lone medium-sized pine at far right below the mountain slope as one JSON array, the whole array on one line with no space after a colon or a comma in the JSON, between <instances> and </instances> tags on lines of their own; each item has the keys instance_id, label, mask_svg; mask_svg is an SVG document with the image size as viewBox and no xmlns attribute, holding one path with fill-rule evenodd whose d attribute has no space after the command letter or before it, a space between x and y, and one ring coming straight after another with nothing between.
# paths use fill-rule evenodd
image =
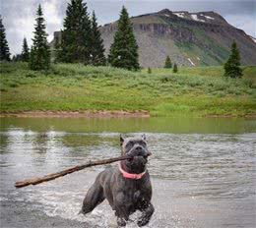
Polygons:
<instances>
[{"instance_id":1,"label":"lone medium-sized pine at far right below the mountain slope","mask_svg":"<svg viewBox=\"0 0 256 228\"><path fill-rule=\"evenodd\" d=\"M235 41L231 45L231 54L224 64L224 76L230 78L241 78L240 54Z\"/></svg>"}]
</instances>

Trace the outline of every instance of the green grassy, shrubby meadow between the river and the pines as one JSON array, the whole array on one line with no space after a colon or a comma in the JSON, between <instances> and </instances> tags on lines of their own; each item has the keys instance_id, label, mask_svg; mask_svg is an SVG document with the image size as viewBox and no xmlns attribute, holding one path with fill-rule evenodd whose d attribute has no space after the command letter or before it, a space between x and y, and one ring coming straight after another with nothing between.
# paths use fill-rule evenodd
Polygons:
<instances>
[{"instance_id":1,"label":"green grassy, shrubby meadow between the river and the pines","mask_svg":"<svg viewBox=\"0 0 256 228\"><path fill-rule=\"evenodd\" d=\"M129 72L58 64L46 75L25 63L1 64L1 112L32 110L148 110L151 115L256 113L256 67L241 80L222 67Z\"/></svg>"}]
</instances>

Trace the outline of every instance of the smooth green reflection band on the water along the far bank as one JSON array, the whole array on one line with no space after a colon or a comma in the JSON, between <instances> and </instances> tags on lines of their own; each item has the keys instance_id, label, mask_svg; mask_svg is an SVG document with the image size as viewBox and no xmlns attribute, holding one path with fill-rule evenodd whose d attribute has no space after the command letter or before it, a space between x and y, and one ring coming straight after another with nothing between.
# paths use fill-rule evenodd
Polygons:
<instances>
[{"instance_id":1,"label":"smooth green reflection band on the water along the far bank","mask_svg":"<svg viewBox=\"0 0 256 228\"><path fill-rule=\"evenodd\" d=\"M58 119L58 118L0 118L0 129L10 126L33 132L69 133L200 133L242 134L255 133L256 121L242 118L131 118L131 119ZM50 129L49 129L50 128Z\"/></svg>"}]
</instances>

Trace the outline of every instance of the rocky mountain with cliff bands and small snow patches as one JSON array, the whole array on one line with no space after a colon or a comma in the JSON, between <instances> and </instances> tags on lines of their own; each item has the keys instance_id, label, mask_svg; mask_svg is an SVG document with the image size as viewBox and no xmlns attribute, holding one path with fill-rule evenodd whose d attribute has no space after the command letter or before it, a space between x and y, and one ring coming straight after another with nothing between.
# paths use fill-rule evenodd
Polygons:
<instances>
[{"instance_id":1,"label":"rocky mountain with cliff bands and small snow patches","mask_svg":"<svg viewBox=\"0 0 256 228\"><path fill-rule=\"evenodd\" d=\"M162 67L167 55L183 66L221 65L229 55L232 40L240 50L244 65L256 65L256 39L229 25L215 12L171 12L132 17L142 67ZM117 23L100 27L106 54ZM60 32L54 32L58 37ZM51 44L54 40L51 42Z\"/></svg>"}]
</instances>

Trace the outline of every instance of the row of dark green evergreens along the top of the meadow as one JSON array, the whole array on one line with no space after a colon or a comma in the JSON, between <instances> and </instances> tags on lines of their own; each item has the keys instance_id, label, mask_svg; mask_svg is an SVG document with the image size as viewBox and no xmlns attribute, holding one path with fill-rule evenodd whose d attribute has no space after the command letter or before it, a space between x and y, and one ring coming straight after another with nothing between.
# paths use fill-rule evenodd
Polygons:
<instances>
[{"instance_id":1,"label":"row of dark green evergreens along the top of the meadow","mask_svg":"<svg viewBox=\"0 0 256 228\"><path fill-rule=\"evenodd\" d=\"M84 63L85 65L125 68L139 70L138 44L133 33L133 27L129 14L122 7L117 22L117 30L113 43L110 46L107 58L104 55L103 40L96 22L95 11L92 18L88 13L87 3L83 0L71 0L67 5L63 29L60 40L54 44L55 62ZM224 64L224 76L239 78L242 75L240 68L239 50L235 41L231 45L228 60ZM29 48L26 37L23 40L22 53L13 57L14 61L29 62L32 70L48 70L51 63L51 52L47 42L45 20L41 6L36 11L35 26L32 38L32 47ZM0 61L10 61L10 50L6 39L5 28L0 16ZM164 68L177 73L177 64L172 66L169 56L166 56ZM148 69L149 73L152 70Z\"/></svg>"}]
</instances>

